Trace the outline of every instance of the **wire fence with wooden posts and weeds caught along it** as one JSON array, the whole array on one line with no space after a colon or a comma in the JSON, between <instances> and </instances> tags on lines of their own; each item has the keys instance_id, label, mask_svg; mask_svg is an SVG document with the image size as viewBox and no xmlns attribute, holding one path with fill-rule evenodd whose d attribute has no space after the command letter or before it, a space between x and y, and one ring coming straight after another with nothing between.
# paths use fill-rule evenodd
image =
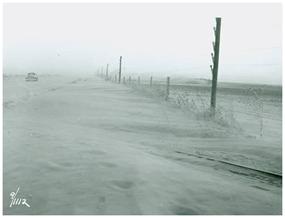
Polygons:
<instances>
[{"instance_id":1,"label":"wire fence with wooden posts and weeds caught along it","mask_svg":"<svg viewBox=\"0 0 285 218\"><path fill-rule=\"evenodd\" d=\"M105 80L119 83L117 74ZM132 89L173 103L197 119L210 116L210 80L124 75L120 81ZM274 137L282 127L282 88L260 85L220 84L214 121L229 129L245 130L251 136Z\"/></svg>"}]
</instances>

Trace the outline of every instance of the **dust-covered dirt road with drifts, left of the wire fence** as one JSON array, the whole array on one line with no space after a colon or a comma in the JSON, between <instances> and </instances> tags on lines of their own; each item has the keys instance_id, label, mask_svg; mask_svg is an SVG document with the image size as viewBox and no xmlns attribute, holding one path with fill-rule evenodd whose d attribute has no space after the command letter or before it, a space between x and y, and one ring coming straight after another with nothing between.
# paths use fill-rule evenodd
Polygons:
<instances>
[{"instance_id":1,"label":"dust-covered dirt road with drifts, left of the wire fence","mask_svg":"<svg viewBox=\"0 0 285 218\"><path fill-rule=\"evenodd\" d=\"M35 90L4 104L4 214L281 214L280 186L167 156L212 124L100 78Z\"/></svg>"}]
</instances>

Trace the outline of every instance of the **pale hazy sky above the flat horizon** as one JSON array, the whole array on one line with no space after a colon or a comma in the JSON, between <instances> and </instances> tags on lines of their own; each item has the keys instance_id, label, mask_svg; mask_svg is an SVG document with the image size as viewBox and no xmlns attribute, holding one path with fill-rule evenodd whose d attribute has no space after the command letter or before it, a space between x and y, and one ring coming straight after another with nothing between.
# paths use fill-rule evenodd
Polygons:
<instances>
[{"instance_id":1,"label":"pale hazy sky above the flat horizon","mask_svg":"<svg viewBox=\"0 0 285 218\"><path fill-rule=\"evenodd\" d=\"M281 84L281 4L5 4L4 73L123 73L211 78L222 17L219 81Z\"/></svg>"}]
</instances>

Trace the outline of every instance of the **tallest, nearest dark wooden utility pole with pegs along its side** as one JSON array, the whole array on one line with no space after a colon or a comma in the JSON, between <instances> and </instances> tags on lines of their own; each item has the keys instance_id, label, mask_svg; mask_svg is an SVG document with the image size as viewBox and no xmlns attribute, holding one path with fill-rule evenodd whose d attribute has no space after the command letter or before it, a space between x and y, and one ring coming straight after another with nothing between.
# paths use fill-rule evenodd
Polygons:
<instances>
[{"instance_id":1,"label":"tallest, nearest dark wooden utility pole with pegs along its side","mask_svg":"<svg viewBox=\"0 0 285 218\"><path fill-rule=\"evenodd\" d=\"M216 18L216 28L214 27L215 42L213 42L213 53L211 53L213 65L210 65L212 71L212 92L211 92L211 111L215 114L216 109L216 93L218 83L218 68L219 68L219 52L220 52L220 33L221 33L221 18Z\"/></svg>"}]
</instances>

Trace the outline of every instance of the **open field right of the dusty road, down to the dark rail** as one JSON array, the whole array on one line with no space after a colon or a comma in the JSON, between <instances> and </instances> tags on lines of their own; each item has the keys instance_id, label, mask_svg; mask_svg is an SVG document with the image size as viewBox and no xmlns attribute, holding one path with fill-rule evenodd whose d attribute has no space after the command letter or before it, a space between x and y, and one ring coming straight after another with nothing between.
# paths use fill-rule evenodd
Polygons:
<instances>
[{"instance_id":1,"label":"open field right of the dusty road, down to the dark rail","mask_svg":"<svg viewBox=\"0 0 285 218\"><path fill-rule=\"evenodd\" d=\"M165 79L142 80L126 83L139 92L161 99L165 96ZM257 84L220 83L217 95L217 114L210 117L211 83L207 80L173 79L170 85L169 102L184 111L197 123L208 120L218 124L213 129L200 133L208 137L236 137L249 143L235 140L209 147L197 142L199 154L219 160L282 174L282 87ZM209 123L206 125L208 126ZM219 130L220 129L220 130ZM188 130L189 131L189 130ZM193 131L193 130L192 130ZM190 133L189 133L190 134ZM193 136L195 137L195 136ZM253 140L252 140L253 139ZM207 144L207 145L205 145ZM193 151L194 152L194 151ZM194 152L196 153L196 151ZM275 161L278 160L278 161Z\"/></svg>"}]
</instances>

